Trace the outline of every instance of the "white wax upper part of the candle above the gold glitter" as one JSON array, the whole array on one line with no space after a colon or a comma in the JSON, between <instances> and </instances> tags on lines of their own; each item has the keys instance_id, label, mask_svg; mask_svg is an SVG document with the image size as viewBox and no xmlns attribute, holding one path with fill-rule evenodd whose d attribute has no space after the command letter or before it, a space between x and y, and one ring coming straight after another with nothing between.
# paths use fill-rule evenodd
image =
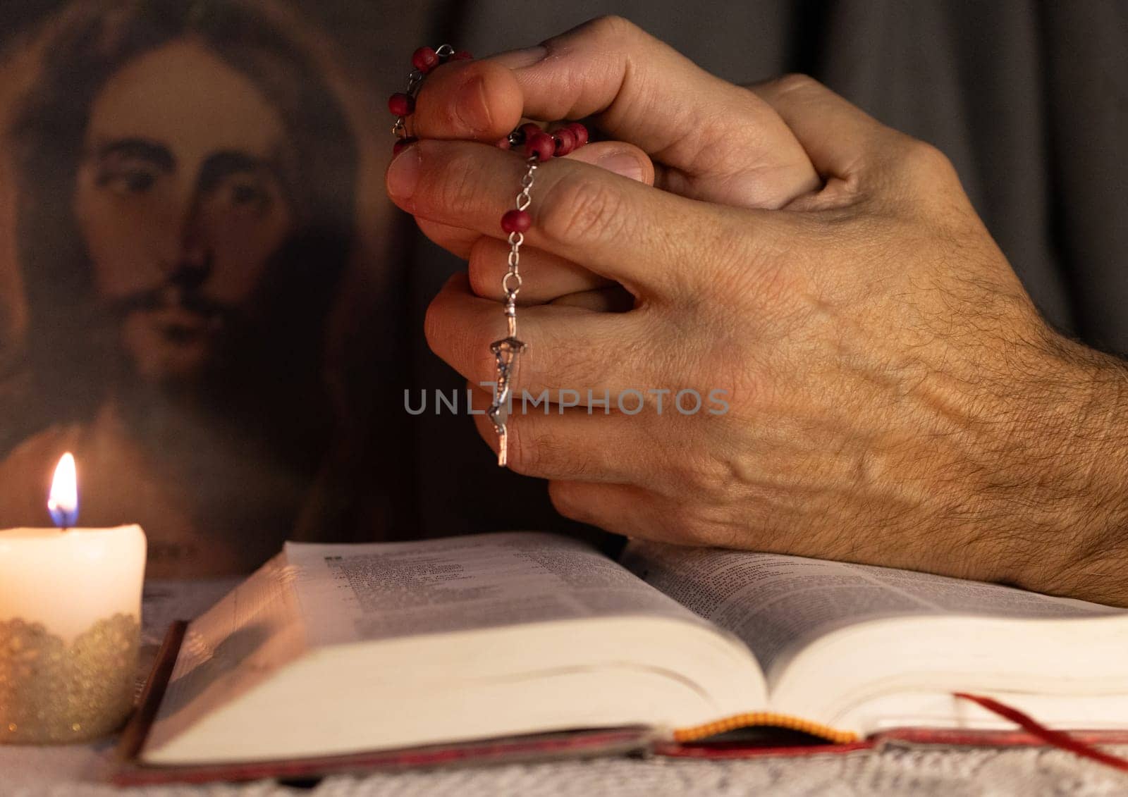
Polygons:
<instances>
[{"instance_id":1,"label":"white wax upper part of the candle above the gold glitter","mask_svg":"<svg viewBox=\"0 0 1128 797\"><path fill-rule=\"evenodd\" d=\"M0 621L42 623L64 644L114 614L140 622L144 561L139 525L0 531Z\"/></svg>"}]
</instances>

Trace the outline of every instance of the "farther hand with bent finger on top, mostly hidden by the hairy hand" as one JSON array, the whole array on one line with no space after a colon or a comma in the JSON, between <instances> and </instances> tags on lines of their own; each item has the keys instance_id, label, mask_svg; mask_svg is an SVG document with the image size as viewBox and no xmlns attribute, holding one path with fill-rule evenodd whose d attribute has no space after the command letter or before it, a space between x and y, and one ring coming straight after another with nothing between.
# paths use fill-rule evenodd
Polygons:
<instances>
[{"instance_id":1,"label":"farther hand with bent finger on top, mostly hidden by the hairy hand","mask_svg":"<svg viewBox=\"0 0 1128 797\"><path fill-rule=\"evenodd\" d=\"M600 17L536 47L444 64L423 83L412 125L423 139L493 144L526 118L589 114L611 140L593 141L565 160L690 198L748 207L779 207L820 185L803 148L767 103L622 17ZM462 191L451 187L451 200L496 203L500 218L520 186L512 174L483 180L481 172L467 172ZM447 224L426 209L413 210L409 198L400 204L431 240L469 262L475 291L497 295L510 248L500 228L482 234ZM519 303L609 309L622 301L610 290L613 280L535 243L522 248L521 267L537 278L522 286Z\"/></svg>"}]
</instances>

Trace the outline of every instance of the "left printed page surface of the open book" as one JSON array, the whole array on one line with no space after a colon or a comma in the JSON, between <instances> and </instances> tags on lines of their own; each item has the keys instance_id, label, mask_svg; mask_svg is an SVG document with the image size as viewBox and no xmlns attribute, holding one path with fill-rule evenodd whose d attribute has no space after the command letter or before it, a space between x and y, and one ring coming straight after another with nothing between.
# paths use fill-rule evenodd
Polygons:
<instances>
[{"instance_id":1,"label":"left printed page surface of the open book","mask_svg":"<svg viewBox=\"0 0 1128 797\"><path fill-rule=\"evenodd\" d=\"M556 534L288 542L285 557L312 645L610 614L700 621L587 543Z\"/></svg>"}]
</instances>

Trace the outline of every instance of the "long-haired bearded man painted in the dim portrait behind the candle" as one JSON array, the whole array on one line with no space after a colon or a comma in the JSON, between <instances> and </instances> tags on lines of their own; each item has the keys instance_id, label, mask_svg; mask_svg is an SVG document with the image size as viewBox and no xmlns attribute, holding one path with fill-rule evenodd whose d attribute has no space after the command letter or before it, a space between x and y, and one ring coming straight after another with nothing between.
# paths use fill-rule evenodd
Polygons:
<instances>
[{"instance_id":1,"label":"long-haired bearded man painted in the dim portrait behind the candle","mask_svg":"<svg viewBox=\"0 0 1128 797\"><path fill-rule=\"evenodd\" d=\"M254 3L104 0L44 26L11 118L26 307L0 525L140 523L150 573L250 569L335 431L326 321L353 246L356 144L312 57Z\"/></svg>"}]
</instances>

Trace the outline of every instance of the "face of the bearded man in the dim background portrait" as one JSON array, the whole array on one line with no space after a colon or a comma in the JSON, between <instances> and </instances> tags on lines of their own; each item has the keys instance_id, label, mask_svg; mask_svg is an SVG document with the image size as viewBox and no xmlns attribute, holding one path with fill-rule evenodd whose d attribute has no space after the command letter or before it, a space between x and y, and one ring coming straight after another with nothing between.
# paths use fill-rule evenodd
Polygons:
<instances>
[{"instance_id":1,"label":"face of the bearded man in the dim background portrait","mask_svg":"<svg viewBox=\"0 0 1128 797\"><path fill-rule=\"evenodd\" d=\"M276 109L191 39L117 71L90 108L74 212L135 372L192 381L293 232Z\"/></svg>"}]
</instances>

